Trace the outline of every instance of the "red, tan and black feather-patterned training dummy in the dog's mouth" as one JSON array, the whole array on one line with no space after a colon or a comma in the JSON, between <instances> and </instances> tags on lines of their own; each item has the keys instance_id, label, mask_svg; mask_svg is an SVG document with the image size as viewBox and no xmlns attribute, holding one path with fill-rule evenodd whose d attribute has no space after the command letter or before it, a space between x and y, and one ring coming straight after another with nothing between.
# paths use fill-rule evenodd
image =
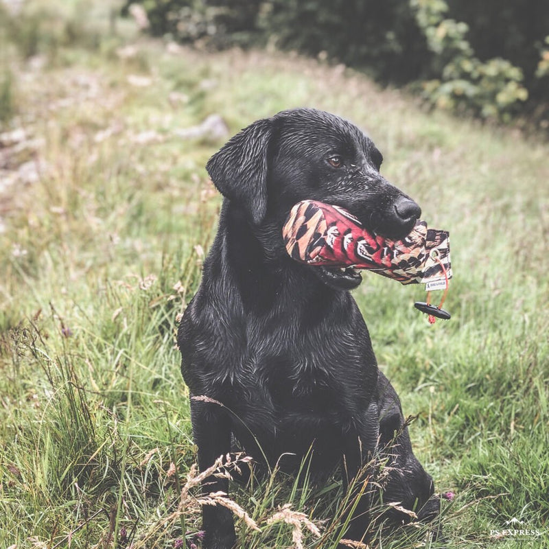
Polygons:
<instances>
[{"instance_id":1,"label":"red, tan and black feather-patterned training dummy in the dog's mouth","mask_svg":"<svg viewBox=\"0 0 549 549\"><path fill-rule=\"evenodd\" d=\"M389 240L342 208L303 200L292 208L283 237L288 254L311 266L368 269L403 284L452 278L448 233L424 221L402 240Z\"/></svg>"}]
</instances>

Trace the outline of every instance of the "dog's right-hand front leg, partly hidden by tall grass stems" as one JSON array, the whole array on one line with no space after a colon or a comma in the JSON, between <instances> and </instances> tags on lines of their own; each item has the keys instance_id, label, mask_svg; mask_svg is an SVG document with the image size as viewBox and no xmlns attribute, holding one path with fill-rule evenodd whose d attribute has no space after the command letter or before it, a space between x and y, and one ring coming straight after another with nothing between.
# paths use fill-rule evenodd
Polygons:
<instances>
[{"instance_id":1,"label":"dog's right-hand front leg, partly hidden by tall grass stems","mask_svg":"<svg viewBox=\"0 0 549 549\"><path fill-rule=\"evenodd\" d=\"M377 441L379 437L379 408L371 403L362 417L356 421L355 430L351 430L343 445L343 482L344 487L352 487L347 506L348 513L360 498L352 511L349 527L343 537L354 541L366 541L366 531L370 524L371 487L369 480L375 467ZM348 515L347 515L348 516ZM342 549L344 546L340 546Z\"/></svg>"}]
</instances>

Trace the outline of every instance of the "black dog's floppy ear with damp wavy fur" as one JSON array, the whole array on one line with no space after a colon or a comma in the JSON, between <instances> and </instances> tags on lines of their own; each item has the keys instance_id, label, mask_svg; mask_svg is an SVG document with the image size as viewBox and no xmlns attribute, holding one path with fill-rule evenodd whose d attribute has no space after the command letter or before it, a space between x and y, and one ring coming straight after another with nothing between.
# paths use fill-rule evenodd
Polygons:
<instances>
[{"instance_id":1,"label":"black dog's floppy ear with damp wavy fur","mask_svg":"<svg viewBox=\"0 0 549 549\"><path fill-rule=\"evenodd\" d=\"M267 212L268 145L272 120L254 122L232 137L209 159L206 170L220 193L244 207L261 223Z\"/></svg>"}]
</instances>

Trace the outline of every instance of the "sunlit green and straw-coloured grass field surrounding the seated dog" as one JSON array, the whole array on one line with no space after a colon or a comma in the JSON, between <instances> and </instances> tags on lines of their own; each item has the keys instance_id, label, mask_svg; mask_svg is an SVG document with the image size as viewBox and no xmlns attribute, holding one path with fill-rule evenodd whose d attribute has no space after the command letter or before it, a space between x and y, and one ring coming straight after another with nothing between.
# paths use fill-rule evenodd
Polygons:
<instances>
[{"instance_id":1,"label":"sunlit green and straw-coloured grass field surrounding the seated dog","mask_svg":"<svg viewBox=\"0 0 549 549\"><path fill-rule=\"evenodd\" d=\"M417 455L457 494L449 546L549 546L549 145L425 112L343 67L174 51L113 25L104 3L25 9L0 33L0 547L199 543L174 336L215 231L204 165L224 139L177 130L218 113L232 135L299 105L367 128L384 175L451 233L449 322L412 308L421 288L366 274L355 291L418 415ZM273 474L232 494L259 528L237 521L242 547L295 546L298 528L305 547L334 546L335 480ZM513 517L540 535L502 535ZM373 546L417 546L412 530Z\"/></svg>"}]
</instances>

